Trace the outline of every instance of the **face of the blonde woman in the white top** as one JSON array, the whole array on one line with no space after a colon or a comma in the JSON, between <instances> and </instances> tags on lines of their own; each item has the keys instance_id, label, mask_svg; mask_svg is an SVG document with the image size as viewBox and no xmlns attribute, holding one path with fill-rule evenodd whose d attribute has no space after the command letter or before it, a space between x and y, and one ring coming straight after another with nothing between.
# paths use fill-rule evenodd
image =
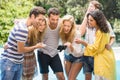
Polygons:
<instances>
[{"instance_id":1,"label":"face of the blonde woman in the white top","mask_svg":"<svg viewBox=\"0 0 120 80\"><path fill-rule=\"evenodd\" d=\"M65 20L63 22L63 31L65 34L68 34L72 28L72 22L69 20Z\"/></svg>"}]
</instances>

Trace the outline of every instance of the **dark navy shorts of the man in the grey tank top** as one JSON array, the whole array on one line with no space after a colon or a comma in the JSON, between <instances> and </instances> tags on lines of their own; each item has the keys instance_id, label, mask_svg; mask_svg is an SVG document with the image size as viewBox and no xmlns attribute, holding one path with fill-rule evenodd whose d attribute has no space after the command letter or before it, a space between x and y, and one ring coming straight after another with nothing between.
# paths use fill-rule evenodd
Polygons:
<instances>
[{"instance_id":1,"label":"dark navy shorts of the man in the grey tank top","mask_svg":"<svg viewBox=\"0 0 120 80\"><path fill-rule=\"evenodd\" d=\"M50 57L49 55L46 55L43 52L38 51L37 56L41 74L48 73L49 66L51 67L54 73L63 72L62 63L58 54L54 57Z\"/></svg>"}]
</instances>

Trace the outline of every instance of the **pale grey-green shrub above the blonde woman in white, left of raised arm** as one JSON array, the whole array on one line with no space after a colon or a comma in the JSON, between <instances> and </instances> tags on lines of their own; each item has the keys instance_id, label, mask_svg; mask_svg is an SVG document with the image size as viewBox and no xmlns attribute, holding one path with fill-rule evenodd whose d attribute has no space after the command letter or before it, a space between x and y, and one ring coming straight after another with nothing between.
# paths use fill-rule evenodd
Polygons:
<instances>
[{"instance_id":1,"label":"pale grey-green shrub above the blonde woman in white, left of raised arm","mask_svg":"<svg viewBox=\"0 0 120 80\"><path fill-rule=\"evenodd\" d=\"M82 22L86 11L87 4L83 5L82 3L83 2L79 0L69 0L67 4L67 14L73 15L76 19L77 24L80 24Z\"/></svg>"}]
</instances>

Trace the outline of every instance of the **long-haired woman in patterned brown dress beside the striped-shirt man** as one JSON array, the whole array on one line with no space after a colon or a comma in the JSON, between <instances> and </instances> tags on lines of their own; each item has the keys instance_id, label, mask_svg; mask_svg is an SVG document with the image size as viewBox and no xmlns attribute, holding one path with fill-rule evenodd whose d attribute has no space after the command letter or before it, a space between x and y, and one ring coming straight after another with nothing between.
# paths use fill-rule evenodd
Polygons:
<instances>
[{"instance_id":1,"label":"long-haired woman in patterned brown dress beside the striped-shirt man","mask_svg":"<svg viewBox=\"0 0 120 80\"><path fill-rule=\"evenodd\" d=\"M46 27L47 22L45 18L43 21L37 22L28 27L28 40L26 46L33 46L41 42L44 47L45 45L42 43L42 37ZM37 65L34 51L25 53L23 62L23 80L33 80L36 67Z\"/></svg>"}]
</instances>

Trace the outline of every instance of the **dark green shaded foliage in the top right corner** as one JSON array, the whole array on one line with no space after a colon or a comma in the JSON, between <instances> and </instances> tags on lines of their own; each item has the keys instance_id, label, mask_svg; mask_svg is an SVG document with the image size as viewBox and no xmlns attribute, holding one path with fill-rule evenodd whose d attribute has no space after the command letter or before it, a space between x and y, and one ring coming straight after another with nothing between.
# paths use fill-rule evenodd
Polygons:
<instances>
[{"instance_id":1,"label":"dark green shaded foliage in the top right corner","mask_svg":"<svg viewBox=\"0 0 120 80\"><path fill-rule=\"evenodd\" d=\"M103 12L107 19L120 19L120 0L98 0L103 5Z\"/></svg>"}]
</instances>

